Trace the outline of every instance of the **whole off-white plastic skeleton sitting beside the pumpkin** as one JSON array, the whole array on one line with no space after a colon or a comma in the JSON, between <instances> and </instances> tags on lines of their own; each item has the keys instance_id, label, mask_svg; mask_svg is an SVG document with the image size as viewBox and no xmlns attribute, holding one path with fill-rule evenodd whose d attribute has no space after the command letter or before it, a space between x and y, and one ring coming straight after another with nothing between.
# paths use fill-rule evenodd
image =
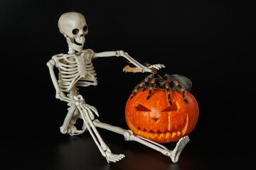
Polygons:
<instances>
[{"instance_id":1,"label":"whole off-white plastic skeleton sitting beside the pumpkin","mask_svg":"<svg viewBox=\"0 0 256 170\"><path fill-rule=\"evenodd\" d=\"M84 98L78 92L78 86L96 86L97 77L94 67L92 66L92 59L97 57L124 57L136 67L141 69L142 72L151 72L151 69L160 69L164 67L163 64L154 64L150 67L145 67L139 64L136 60L130 57L127 52L122 50L114 52L100 52L95 53L90 49L82 50L85 43L85 35L87 35L87 23L85 17L80 13L69 12L60 16L58 21L58 28L68 42L68 54L54 55L52 59L47 62L47 66L50 71L50 77L53 81L53 85L56 90L55 97L60 101L68 103L68 114L65 117L63 125L60 127L60 132L69 135L79 135L88 130L92 135L97 147L100 149L103 157L107 159L107 162L117 162L124 158L124 154L112 154L110 148L107 147L102 140L99 132L96 128L104 128L112 132L124 135L125 140L134 140L143 145L156 149L157 151L171 157L173 162L178 161L178 157L181 154L183 147L188 142L188 137L183 137L178 141L173 151L166 147L159 145L156 142L147 140L143 137L139 137L133 134L131 130L124 130L119 127L101 123L95 119L93 113L99 116L97 109L94 106L90 106L85 103ZM55 77L53 68L57 67L59 74L58 80ZM67 93L65 96L64 93ZM82 130L75 128L75 123L78 118L83 120Z\"/></svg>"}]
</instances>

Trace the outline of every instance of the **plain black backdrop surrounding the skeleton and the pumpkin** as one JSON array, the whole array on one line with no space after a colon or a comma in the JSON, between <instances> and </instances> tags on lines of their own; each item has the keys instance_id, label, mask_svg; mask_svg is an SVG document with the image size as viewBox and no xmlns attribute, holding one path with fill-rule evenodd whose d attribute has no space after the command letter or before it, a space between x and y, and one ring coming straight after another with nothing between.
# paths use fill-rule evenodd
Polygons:
<instances>
[{"instance_id":1,"label":"plain black backdrop surrounding the skeleton and the pumpkin","mask_svg":"<svg viewBox=\"0 0 256 170\"><path fill-rule=\"evenodd\" d=\"M255 22L244 1L1 1L1 162L8 169L240 169L255 160ZM67 108L55 99L46 62L68 45L62 13L88 24L85 48L124 50L141 63L165 64L160 74L193 81L200 115L178 164L159 152L99 130L113 153L107 164L88 132L63 135ZM124 107L148 74L124 74L124 58L93 60L98 86L80 88L100 120L127 128ZM79 125L79 123L78 123ZM169 149L175 143L165 144ZM4 167L4 166L3 166Z\"/></svg>"}]
</instances>

